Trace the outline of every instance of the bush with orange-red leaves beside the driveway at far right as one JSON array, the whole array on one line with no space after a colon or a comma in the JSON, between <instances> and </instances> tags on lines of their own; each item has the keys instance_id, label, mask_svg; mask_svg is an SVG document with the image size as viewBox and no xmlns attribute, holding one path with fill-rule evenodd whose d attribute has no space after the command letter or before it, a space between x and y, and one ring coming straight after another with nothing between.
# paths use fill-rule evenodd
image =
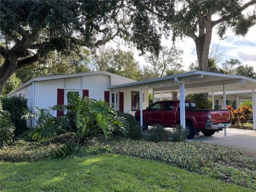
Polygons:
<instances>
[{"instance_id":1,"label":"bush with orange-red leaves beside the driveway at far right","mask_svg":"<svg viewBox=\"0 0 256 192\"><path fill-rule=\"evenodd\" d=\"M245 123L249 122L250 114L252 114L252 108L249 106L239 107L238 109L227 106L227 110L229 111L232 124L238 126L243 126Z\"/></svg>"}]
</instances>

